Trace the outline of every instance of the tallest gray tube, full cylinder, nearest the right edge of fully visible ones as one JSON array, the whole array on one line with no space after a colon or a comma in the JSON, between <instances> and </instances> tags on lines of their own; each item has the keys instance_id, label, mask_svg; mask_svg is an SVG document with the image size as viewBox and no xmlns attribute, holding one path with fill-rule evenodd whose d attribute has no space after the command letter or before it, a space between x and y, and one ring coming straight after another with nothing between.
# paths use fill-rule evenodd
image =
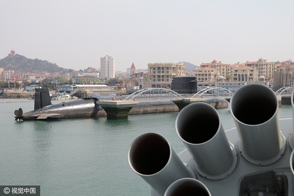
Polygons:
<instances>
[{"instance_id":1,"label":"tallest gray tube, full cylinder, nearest the right edge of fully visible ones","mask_svg":"<svg viewBox=\"0 0 294 196\"><path fill-rule=\"evenodd\" d=\"M240 87L231 97L230 110L243 155L253 160L267 161L279 154L282 138L278 100L270 88L261 84Z\"/></svg>"}]
</instances>

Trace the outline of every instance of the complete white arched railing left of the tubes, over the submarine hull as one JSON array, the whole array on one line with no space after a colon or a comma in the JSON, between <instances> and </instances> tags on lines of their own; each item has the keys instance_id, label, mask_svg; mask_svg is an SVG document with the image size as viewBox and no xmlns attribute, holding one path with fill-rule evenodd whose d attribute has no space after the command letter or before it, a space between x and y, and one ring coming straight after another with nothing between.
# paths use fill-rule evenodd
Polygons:
<instances>
[{"instance_id":1,"label":"complete white arched railing left of the tubes, over the submarine hull","mask_svg":"<svg viewBox=\"0 0 294 196\"><path fill-rule=\"evenodd\" d=\"M158 100L158 99L183 99L177 92L167 88L143 88L133 92L123 100Z\"/></svg>"}]
</instances>

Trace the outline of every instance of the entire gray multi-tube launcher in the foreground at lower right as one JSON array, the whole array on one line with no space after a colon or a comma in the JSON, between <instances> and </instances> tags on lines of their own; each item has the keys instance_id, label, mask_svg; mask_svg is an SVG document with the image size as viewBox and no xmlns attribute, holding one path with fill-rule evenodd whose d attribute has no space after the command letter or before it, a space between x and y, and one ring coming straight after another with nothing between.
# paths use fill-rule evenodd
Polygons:
<instances>
[{"instance_id":1,"label":"entire gray multi-tube launcher in the foreground at lower right","mask_svg":"<svg viewBox=\"0 0 294 196\"><path fill-rule=\"evenodd\" d=\"M293 100L292 93L292 116ZM156 132L131 142L128 164L150 195L294 195L293 118L278 117L275 93L261 84L240 87L229 104L235 127L228 130L207 103L181 109L175 134L186 148L179 153Z\"/></svg>"}]
</instances>

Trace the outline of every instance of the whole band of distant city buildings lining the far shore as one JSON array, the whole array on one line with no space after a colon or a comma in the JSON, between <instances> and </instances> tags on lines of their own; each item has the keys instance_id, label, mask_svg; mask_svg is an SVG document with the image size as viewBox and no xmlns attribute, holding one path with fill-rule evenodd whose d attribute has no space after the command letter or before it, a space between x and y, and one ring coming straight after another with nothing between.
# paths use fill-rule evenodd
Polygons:
<instances>
[{"instance_id":1,"label":"whole band of distant city buildings lining the far shore","mask_svg":"<svg viewBox=\"0 0 294 196\"><path fill-rule=\"evenodd\" d=\"M8 56L11 58L17 55L12 49ZM57 73L54 73L57 74ZM0 80L22 83L24 81L39 82L44 78L54 78L60 75L49 73L14 73L14 70L4 70L0 68ZM88 67L83 73L73 76L70 73L62 73L66 79L72 79L78 83L81 77L99 78L102 82L110 81L111 85L122 87L125 85L136 85L139 88L163 87L171 88L173 77L177 76L196 76L197 88L203 87L225 87L238 88L247 83L262 83L275 88L294 84L294 63L291 60L283 62L268 62L266 59L259 58L256 61L246 61L244 63L225 64L222 61L213 59L211 62L202 62L194 70L186 70L184 63L174 62L149 62L147 69L136 69L134 63L127 72L118 71L115 75L115 58L112 56L100 57L100 69ZM91 80L91 79L90 79ZM110 84L110 83L109 83Z\"/></svg>"}]
</instances>

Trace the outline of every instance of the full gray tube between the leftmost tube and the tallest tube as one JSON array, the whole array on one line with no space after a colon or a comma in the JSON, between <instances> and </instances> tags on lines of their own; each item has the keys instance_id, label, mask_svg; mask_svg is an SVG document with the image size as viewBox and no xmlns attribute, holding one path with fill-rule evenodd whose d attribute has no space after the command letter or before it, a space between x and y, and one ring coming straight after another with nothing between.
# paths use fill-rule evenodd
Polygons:
<instances>
[{"instance_id":1,"label":"full gray tube between the leftmost tube and the tallest tube","mask_svg":"<svg viewBox=\"0 0 294 196\"><path fill-rule=\"evenodd\" d=\"M233 152L214 107L206 103L185 106L176 117L175 129L204 175L228 175L234 167Z\"/></svg>"}]
</instances>

